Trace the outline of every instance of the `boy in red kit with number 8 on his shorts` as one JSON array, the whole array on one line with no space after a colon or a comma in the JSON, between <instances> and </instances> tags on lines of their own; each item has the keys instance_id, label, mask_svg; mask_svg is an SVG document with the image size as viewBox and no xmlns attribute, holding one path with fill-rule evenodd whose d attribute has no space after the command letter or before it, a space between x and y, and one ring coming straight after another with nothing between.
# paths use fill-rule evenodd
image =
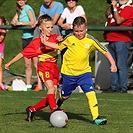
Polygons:
<instances>
[{"instance_id":1,"label":"boy in red kit with number 8 on his shorts","mask_svg":"<svg viewBox=\"0 0 133 133\"><path fill-rule=\"evenodd\" d=\"M47 41L58 42L58 35L52 34L53 19L48 15L42 15L38 20L38 25L42 33L45 33ZM59 70L56 64L57 50L42 44L40 37L33 39L31 43L16 55L10 62L5 64L5 69L9 70L9 67L20 60L23 57L32 58L38 56L38 75L41 81L47 87L47 95L40 100L34 106L26 108L27 118L26 120L31 122L33 119L33 113L49 105L51 112L56 110L56 92L59 84Z\"/></svg>"}]
</instances>

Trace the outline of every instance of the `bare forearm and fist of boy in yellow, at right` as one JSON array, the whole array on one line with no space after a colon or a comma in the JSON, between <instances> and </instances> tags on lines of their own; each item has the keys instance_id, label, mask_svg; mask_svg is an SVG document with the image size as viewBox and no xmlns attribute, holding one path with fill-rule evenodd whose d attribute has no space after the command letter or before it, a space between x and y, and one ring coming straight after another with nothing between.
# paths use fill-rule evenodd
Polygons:
<instances>
[{"instance_id":1,"label":"bare forearm and fist of boy in yellow, at right","mask_svg":"<svg viewBox=\"0 0 133 133\"><path fill-rule=\"evenodd\" d=\"M116 67L115 61L109 51L106 52L105 57L109 60L109 62L111 64L110 71L117 72L117 67Z\"/></svg>"}]
</instances>

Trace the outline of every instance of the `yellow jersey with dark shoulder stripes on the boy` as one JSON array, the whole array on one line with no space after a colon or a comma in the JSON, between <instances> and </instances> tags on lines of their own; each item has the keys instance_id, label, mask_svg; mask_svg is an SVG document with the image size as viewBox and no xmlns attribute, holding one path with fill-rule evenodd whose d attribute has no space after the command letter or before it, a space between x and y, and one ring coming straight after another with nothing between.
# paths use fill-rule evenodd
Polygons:
<instances>
[{"instance_id":1,"label":"yellow jersey with dark shoulder stripes on the boy","mask_svg":"<svg viewBox=\"0 0 133 133\"><path fill-rule=\"evenodd\" d=\"M73 34L69 34L62 42L58 43L58 48L59 50L67 48L63 55L61 73L71 76L91 72L89 55L93 50L98 50L103 54L108 51L104 45L89 34L86 34L81 40Z\"/></svg>"}]
</instances>

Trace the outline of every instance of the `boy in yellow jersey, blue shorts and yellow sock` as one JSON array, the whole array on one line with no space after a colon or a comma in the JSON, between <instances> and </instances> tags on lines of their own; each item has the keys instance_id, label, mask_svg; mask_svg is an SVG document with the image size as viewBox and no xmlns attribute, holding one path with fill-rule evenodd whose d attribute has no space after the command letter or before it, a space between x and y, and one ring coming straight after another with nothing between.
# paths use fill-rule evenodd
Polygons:
<instances>
[{"instance_id":1,"label":"boy in yellow jersey, blue shorts and yellow sock","mask_svg":"<svg viewBox=\"0 0 133 133\"><path fill-rule=\"evenodd\" d=\"M68 99L77 86L80 86L85 93L92 113L93 123L104 125L107 119L101 118L98 112L98 102L92 81L91 67L89 65L89 55L93 50L98 50L107 57L110 62L111 72L116 72L117 67L108 49L101 45L98 40L87 34L87 26L83 17L77 17L73 22L73 34L69 34L60 43L50 43L45 36L41 37L44 45L67 50L63 56L61 68L62 89L57 106L60 107L64 100Z\"/></svg>"}]
</instances>

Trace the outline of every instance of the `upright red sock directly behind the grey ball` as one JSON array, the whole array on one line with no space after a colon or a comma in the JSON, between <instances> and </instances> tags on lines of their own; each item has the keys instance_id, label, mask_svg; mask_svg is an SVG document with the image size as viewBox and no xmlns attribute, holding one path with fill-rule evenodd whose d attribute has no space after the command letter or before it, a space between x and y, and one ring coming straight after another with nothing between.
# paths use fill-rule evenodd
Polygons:
<instances>
[{"instance_id":1,"label":"upright red sock directly behind the grey ball","mask_svg":"<svg viewBox=\"0 0 133 133\"><path fill-rule=\"evenodd\" d=\"M54 94L47 94L47 101L51 112L56 110L56 99Z\"/></svg>"}]
</instances>

